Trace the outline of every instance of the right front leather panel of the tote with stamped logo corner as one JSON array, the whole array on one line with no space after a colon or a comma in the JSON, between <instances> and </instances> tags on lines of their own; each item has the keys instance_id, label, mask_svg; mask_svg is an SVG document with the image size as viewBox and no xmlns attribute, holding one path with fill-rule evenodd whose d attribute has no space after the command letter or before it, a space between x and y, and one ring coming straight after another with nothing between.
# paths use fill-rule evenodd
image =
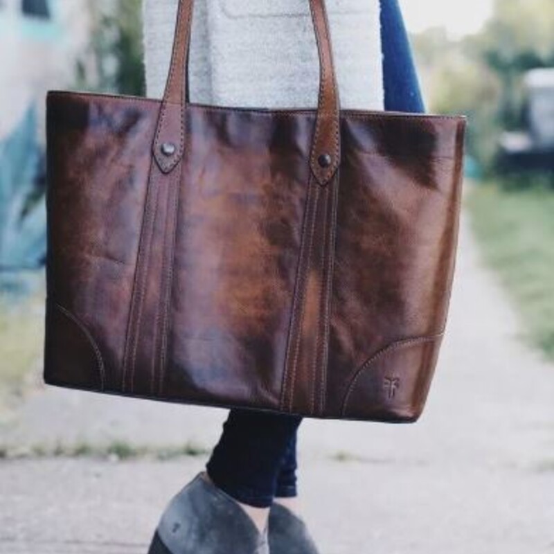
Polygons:
<instances>
[{"instance_id":1,"label":"right front leather panel of the tote with stamped logo corner","mask_svg":"<svg viewBox=\"0 0 554 554\"><path fill-rule=\"evenodd\" d=\"M444 330L458 235L463 127L456 118L343 121L330 359L322 384L327 415L344 415L354 375L377 352ZM391 421L398 413L406 418L409 398L388 393L399 375L398 386L419 395L411 400L422 409L428 386L422 394L414 383L430 382L436 364L430 348L396 355L395 367L379 364L386 368L379 378L364 376L355 391L355 417L364 417L365 395L368 419L376 406L381 420L386 406ZM401 399L403 405L396 405Z\"/></svg>"}]
</instances>

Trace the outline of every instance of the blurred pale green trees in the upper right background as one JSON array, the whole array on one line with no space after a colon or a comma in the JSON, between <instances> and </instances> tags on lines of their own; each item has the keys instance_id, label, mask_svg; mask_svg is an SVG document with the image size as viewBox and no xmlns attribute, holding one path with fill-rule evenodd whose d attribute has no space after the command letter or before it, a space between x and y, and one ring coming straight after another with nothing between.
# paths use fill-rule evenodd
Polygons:
<instances>
[{"instance_id":1,"label":"blurred pale green trees in the upper right background","mask_svg":"<svg viewBox=\"0 0 554 554\"><path fill-rule=\"evenodd\" d=\"M524 73L554 66L553 31L554 1L496 0L480 33L449 39L437 28L412 38L430 109L468 116L467 151L485 171L501 130L524 125Z\"/></svg>"}]
</instances>

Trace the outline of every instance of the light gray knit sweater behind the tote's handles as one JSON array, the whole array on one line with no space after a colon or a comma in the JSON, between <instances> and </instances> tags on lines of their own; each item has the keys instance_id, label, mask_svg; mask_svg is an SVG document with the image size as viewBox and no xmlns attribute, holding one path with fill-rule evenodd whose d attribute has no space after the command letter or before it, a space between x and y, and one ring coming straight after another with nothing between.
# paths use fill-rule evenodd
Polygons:
<instances>
[{"instance_id":1,"label":"light gray knit sweater behind the tote's handles","mask_svg":"<svg viewBox=\"0 0 554 554\"><path fill-rule=\"evenodd\" d=\"M147 95L166 84L178 0L143 0ZM341 107L383 109L379 0L327 0ZM308 0L196 0L190 100L315 107L319 62Z\"/></svg>"}]
</instances>

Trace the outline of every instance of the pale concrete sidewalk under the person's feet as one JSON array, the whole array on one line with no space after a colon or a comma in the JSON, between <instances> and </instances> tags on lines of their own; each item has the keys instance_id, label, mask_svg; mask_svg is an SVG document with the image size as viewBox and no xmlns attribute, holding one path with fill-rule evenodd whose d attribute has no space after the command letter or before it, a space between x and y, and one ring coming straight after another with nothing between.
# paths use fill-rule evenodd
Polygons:
<instances>
[{"instance_id":1,"label":"pale concrete sidewalk under the person's feet","mask_svg":"<svg viewBox=\"0 0 554 554\"><path fill-rule=\"evenodd\" d=\"M554 553L554 367L519 339L463 222L447 337L415 425L306 420L300 485L323 554ZM0 553L145 553L166 501L226 415L48 388L0 431L10 449L148 445L132 461L0 463ZM230 553L234 554L234 553Z\"/></svg>"}]
</instances>

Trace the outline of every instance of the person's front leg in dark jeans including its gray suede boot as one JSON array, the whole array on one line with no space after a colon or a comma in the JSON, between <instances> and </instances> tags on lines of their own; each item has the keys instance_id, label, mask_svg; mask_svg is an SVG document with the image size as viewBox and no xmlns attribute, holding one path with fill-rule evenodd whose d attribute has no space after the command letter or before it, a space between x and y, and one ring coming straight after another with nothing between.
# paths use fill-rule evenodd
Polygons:
<instances>
[{"instance_id":1,"label":"person's front leg in dark jeans including its gray suede boot","mask_svg":"<svg viewBox=\"0 0 554 554\"><path fill-rule=\"evenodd\" d=\"M269 508L300 422L294 415L231 410L206 471L163 511L149 554L192 553L201 545L206 554L229 548L269 554ZM283 552L289 554L290 548Z\"/></svg>"}]
</instances>

